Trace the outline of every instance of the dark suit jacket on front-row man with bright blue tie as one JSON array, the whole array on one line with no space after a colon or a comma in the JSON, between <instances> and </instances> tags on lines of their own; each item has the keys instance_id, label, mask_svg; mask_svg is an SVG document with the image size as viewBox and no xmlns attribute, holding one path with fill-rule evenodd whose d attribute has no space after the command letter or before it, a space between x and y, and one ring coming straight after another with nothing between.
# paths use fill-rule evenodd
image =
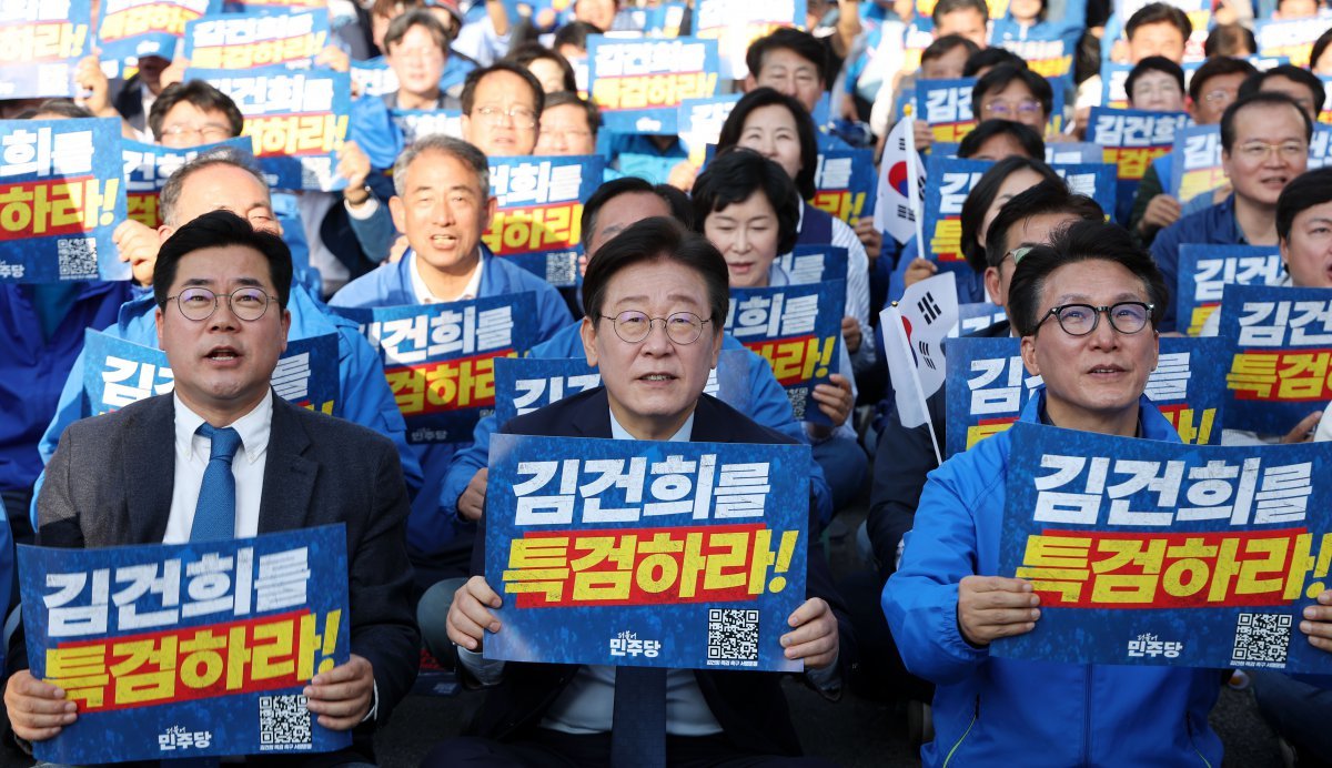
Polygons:
<instances>
[{"instance_id":1,"label":"dark suit jacket on front-row man with bright blue tie","mask_svg":"<svg viewBox=\"0 0 1332 768\"><path fill-rule=\"evenodd\" d=\"M161 542L174 483L174 423L172 395L159 395L71 425L37 498L37 543ZM374 667L378 723L412 688L420 664L408 596L408 510L388 438L273 397L258 532L345 523L352 652ZM21 643L19 632L11 672L27 667ZM357 728L357 752L373 755L372 732L373 724Z\"/></svg>"}]
</instances>

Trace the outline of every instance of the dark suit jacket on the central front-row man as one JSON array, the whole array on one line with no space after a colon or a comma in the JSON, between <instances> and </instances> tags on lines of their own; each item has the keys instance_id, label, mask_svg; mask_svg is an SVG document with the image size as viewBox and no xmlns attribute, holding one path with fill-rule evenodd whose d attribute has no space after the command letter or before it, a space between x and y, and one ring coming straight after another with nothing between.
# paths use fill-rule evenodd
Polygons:
<instances>
[{"instance_id":1,"label":"dark suit jacket on the central front-row man","mask_svg":"<svg viewBox=\"0 0 1332 768\"><path fill-rule=\"evenodd\" d=\"M502 429L507 434L551 435L573 438L609 438L610 406L605 387L567 397L541 410L521 415ZM709 395L702 395L694 411L693 442L714 443L791 443L791 438L759 426L739 411ZM472 572L485 574L485 515L472 550ZM818 530L813 504L810 528ZM838 619L840 650L838 663L843 684L855 659L855 640L846 608L832 587L823 547L818 538L806 538L809 574L806 595L823 598ZM465 670L460 667L460 670ZM490 689L473 729L478 736L498 740L522 737L541 723L542 715L565 689L577 666L527 664L505 666L503 681ZM781 689L781 676L770 672L714 671L694 672L703 699L711 708L726 737L735 748L754 753L799 755L801 744Z\"/></svg>"}]
</instances>

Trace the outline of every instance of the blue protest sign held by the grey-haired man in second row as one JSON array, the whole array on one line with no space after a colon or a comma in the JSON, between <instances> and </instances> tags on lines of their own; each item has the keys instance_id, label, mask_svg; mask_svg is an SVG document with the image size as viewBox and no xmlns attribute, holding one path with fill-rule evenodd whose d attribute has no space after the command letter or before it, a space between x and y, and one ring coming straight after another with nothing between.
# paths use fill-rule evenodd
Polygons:
<instances>
[{"instance_id":1,"label":"blue protest sign held by the grey-haired man in second row","mask_svg":"<svg viewBox=\"0 0 1332 768\"><path fill-rule=\"evenodd\" d=\"M446 303L333 307L361 323L408 422L409 443L472 441L496 407L494 361L537 342L531 291Z\"/></svg>"}]
</instances>

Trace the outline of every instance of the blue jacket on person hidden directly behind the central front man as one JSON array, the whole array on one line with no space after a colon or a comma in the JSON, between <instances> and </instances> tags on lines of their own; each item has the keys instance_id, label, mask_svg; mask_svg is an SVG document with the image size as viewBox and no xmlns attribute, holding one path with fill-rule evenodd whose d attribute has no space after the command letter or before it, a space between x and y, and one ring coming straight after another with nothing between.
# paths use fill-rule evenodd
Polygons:
<instances>
[{"instance_id":1,"label":"blue jacket on person hidden directly behind the central front man","mask_svg":"<svg viewBox=\"0 0 1332 768\"><path fill-rule=\"evenodd\" d=\"M578 321L559 329L553 337L531 347L527 357L539 359L582 358L582 337L578 334L581 326L582 321ZM805 427L795 421L791 413L791 401L786 397L786 390L782 389L782 385L777 383L777 379L773 377L773 367L763 358L749 351L745 345L735 341L729 333L722 334L722 349L746 350L745 361L749 365L750 405L745 415L794 441L809 445L810 438L805 434ZM490 435L496 433L498 426L494 415L477 422L477 429L472 434L472 445L458 451L453 458L441 494L441 506L453 516L457 516L458 496L462 495L462 491L468 490L472 475L477 474L477 470L489 466ZM827 522L832 516L832 491L823 478L823 470L813 457L810 458L810 488L814 492L819 519Z\"/></svg>"}]
</instances>

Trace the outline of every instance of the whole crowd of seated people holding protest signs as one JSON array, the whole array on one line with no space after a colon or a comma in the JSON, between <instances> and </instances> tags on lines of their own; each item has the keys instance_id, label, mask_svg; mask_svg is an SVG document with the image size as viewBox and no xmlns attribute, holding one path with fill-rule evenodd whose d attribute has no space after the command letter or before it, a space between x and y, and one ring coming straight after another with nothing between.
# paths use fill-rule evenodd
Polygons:
<instances>
[{"instance_id":1,"label":"whole crowd of seated people holding protest signs","mask_svg":"<svg viewBox=\"0 0 1332 768\"><path fill-rule=\"evenodd\" d=\"M988 654L1040 619L1031 584L999 575L1008 435L940 465L948 382L928 398L928 423L903 423L884 353L894 339L878 315L942 268L928 244L878 229L872 202L855 221L821 210L815 178L830 150L880 162L919 84L974 79L976 124L958 145L922 120L908 136L926 156L987 161L962 206L958 301L1002 311L974 335L1019 338L1028 374L1043 378L1020 421L1179 442L1143 393L1160 334L1188 327L1172 295L1181 246L1269 246L1284 264L1279 285L1332 288L1332 169L1311 154L1332 85L1332 11L1216 0L1199 7L1201 35L1197 4L1185 3L938 0L922 11L809 0L797 28L750 43L742 80L723 77L739 97L699 165L678 136L603 128L587 95L589 39L642 36L657 5L518 4L514 16L500 0L330 0L332 41L313 64L346 72L382 56L397 83L354 100L341 192L272 189L244 150L209 149L170 174L159 228L117 222L132 280L0 284L11 542L92 548L344 523L352 659L305 695L353 745L292 764L373 764L374 729L410 691L424 648L486 691L466 736L428 765L819 765L801 756L777 673L481 654L503 631L492 610L506 599L482 558L493 435L809 445L807 594L781 644L813 689L931 704L930 765L1220 764L1208 713L1240 679L1231 670ZM666 5L687 35L694 3ZM1325 29L1307 63L1259 56L1256 23L1299 19ZM1064 59L1064 69L1039 72L1038 59ZM1127 68L1130 108L1219 125L1220 186L1172 196L1167 153L1120 189L1115 210L1070 189L1047 152L1086 137L1115 65ZM92 56L75 98L0 102L0 114L109 117L127 138L169 148L242 137L236 101L188 73L181 56L145 56L132 77L108 79ZM452 133L410 134L398 110L461 117ZM490 161L521 156L606 162L603 184L581 200L577 288L484 242L498 206ZM801 245L846 252L839 359L813 389L819 413L803 419L770 363L722 329L733 289L794 282L781 257ZM517 293L533 297L539 343L527 357L586 358L602 386L507 423L485 417L462 442L409 441L378 353L336 309ZM83 419L87 329L165 351L173 394ZM288 339L329 334L337 418L269 386ZM723 350L743 355L741 410L703 394ZM1332 439L1332 419L1315 409L1284 434L1225 434L1235 445L1311 439ZM834 583L819 534L866 498L870 570ZM28 672L12 592L5 725L31 752L79 715ZM1332 652L1332 591L1299 630ZM1292 755L1332 761L1325 681L1243 679Z\"/></svg>"}]
</instances>

